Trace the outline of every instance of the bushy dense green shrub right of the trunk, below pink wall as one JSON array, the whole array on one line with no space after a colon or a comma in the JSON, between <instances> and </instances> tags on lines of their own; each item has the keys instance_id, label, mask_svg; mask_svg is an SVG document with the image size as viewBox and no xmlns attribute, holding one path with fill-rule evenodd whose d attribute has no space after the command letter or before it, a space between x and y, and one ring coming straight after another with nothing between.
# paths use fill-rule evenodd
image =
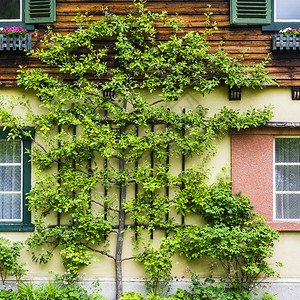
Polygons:
<instances>
[{"instance_id":1,"label":"bushy dense green shrub right of the trunk, below pink wall","mask_svg":"<svg viewBox=\"0 0 300 300\"><path fill-rule=\"evenodd\" d=\"M203 210L207 225L177 230L180 253L188 259L217 259L232 284L237 281L248 289L259 276L275 276L266 258L272 257L279 235L252 210L247 196L234 196L230 182L220 180L207 186L205 197L199 199L196 206Z\"/></svg>"}]
</instances>

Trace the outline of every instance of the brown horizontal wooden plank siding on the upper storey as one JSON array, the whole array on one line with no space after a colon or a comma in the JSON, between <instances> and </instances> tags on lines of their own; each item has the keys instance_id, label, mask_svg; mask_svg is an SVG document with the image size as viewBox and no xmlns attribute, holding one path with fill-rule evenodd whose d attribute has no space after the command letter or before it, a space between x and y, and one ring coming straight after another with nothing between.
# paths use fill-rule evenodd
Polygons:
<instances>
[{"instance_id":1,"label":"brown horizontal wooden plank siding on the upper storey","mask_svg":"<svg viewBox=\"0 0 300 300\"><path fill-rule=\"evenodd\" d=\"M148 0L145 4L147 8L155 12L168 11L170 15L178 15L183 19L187 30L201 30L204 26L204 13L208 4L213 12L212 21L217 22L218 31L210 38L212 47L224 41L224 49L230 55L236 56L247 49L245 63L256 63L262 60L268 53L271 53L271 38L274 32L264 32L259 25L230 25L229 22L229 0ZM103 16L103 9L108 8L117 14L126 14L130 11L131 1L127 0L57 0L56 22L52 24L55 32L68 33L76 29L76 24L72 19L76 14L88 11L98 19ZM43 37L47 25L38 24L33 33L32 47L41 46L40 40ZM158 37L166 40L171 34L163 27L158 27ZM270 75L278 80L283 86L300 86L300 50L296 51L274 51L271 53L272 61L267 70ZM34 59L24 53L7 51L0 54L0 85L16 86L16 72L18 66L27 65L29 67L43 67ZM55 74L55 70L47 67Z\"/></svg>"}]
</instances>

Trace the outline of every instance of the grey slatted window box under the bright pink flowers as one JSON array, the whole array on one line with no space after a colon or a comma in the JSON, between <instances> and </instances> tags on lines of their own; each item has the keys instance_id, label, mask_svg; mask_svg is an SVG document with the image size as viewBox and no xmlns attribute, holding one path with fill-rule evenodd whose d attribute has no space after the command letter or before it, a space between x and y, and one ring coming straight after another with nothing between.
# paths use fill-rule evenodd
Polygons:
<instances>
[{"instance_id":1,"label":"grey slatted window box under the bright pink flowers","mask_svg":"<svg viewBox=\"0 0 300 300\"><path fill-rule=\"evenodd\" d=\"M5 35L0 34L0 51L30 50L31 34Z\"/></svg>"}]
</instances>

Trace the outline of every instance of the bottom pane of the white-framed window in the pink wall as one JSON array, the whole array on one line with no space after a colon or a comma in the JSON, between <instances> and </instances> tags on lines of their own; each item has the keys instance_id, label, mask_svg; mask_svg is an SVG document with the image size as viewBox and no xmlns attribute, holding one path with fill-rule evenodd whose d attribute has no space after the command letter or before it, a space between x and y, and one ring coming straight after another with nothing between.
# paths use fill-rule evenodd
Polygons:
<instances>
[{"instance_id":1,"label":"bottom pane of the white-framed window in the pink wall","mask_svg":"<svg viewBox=\"0 0 300 300\"><path fill-rule=\"evenodd\" d=\"M300 194L276 195L276 219L300 219Z\"/></svg>"}]
</instances>

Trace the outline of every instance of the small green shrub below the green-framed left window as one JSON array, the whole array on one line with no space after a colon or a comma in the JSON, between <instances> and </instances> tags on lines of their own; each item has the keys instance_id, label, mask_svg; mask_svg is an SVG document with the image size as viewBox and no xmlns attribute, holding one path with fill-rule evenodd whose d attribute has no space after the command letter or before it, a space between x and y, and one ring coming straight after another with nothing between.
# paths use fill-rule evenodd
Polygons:
<instances>
[{"instance_id":1,"label":"small green shrub below the green-framed left window","mask_svg":"<svg viewBox=\"0 0 300 300\"><path fill-rule=\"evenodd\" d=\"M14 276L16 282L19 283L27 272L24 268L26 264L18 260L22 248L22 242L12 243L0 237L0 276L4 287L7 276Z\"/></svg>"}]
</instances>

